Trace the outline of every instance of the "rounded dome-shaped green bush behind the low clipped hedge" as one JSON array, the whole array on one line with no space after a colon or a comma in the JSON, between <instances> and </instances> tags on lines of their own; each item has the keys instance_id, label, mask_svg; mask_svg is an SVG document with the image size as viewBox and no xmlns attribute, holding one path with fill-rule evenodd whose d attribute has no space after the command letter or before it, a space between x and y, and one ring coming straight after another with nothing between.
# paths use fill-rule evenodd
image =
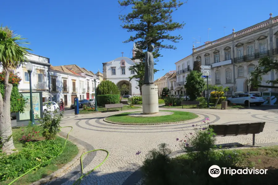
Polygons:
<instances>
[{"instance_id":1,"label":"rounded dome-shaped green bush behind the low clipped hedge","mask_svg":"<svg viewBox=\"0 0 278 185\"><path fill-rule=\"evenodd\" d=\"M120 90L116 84L110 80L104 80L96 88L97 95L120 94Z\"/></svg>"}]
</instances>

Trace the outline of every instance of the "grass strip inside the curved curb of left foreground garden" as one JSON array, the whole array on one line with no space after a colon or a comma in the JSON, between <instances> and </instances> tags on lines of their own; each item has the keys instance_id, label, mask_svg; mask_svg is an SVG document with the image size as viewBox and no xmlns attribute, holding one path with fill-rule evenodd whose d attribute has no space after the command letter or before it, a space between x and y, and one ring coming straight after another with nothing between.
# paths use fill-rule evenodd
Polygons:
<instances>
[{"instance_id":1,"label":"grass strip inside the curved curb of left foreground garden","mask_svg":"<svg viewBox=\"0 0 278 185\"><path fill-rule=\"evenodd\" d=\"M21 128L16 128L13 129L13 139L14 139L14 144L17 150L22 150L23 144L19 142L19 138L21 138L20 131ZM56 137L57 142L60 143L62 146L64 146L65 139L61 137ZM76 155L78 154L78 147L74 145L72 142L67 141L65 150L56 158L54 158L51 163L43 168L40 168L36 171L32 171L28 173L27 175L21 177L17 181L13 183L13 185L25 185L25 184L31 184L41 178L46 177L47 175L50 175L54 171L60 169L63 167L65 164L70 162ZM6 181L0 181L0 185L6 185L9 184L11 180L6 180Z\"/></svg>"}]
</instances>

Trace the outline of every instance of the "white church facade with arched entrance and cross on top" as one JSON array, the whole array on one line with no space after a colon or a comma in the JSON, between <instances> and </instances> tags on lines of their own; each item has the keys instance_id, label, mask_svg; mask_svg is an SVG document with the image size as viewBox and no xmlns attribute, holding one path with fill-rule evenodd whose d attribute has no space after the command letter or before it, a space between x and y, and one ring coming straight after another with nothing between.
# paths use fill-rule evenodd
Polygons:
<instances>
[{"instance_id":1,"label":"white church facade with arched entrance and cross on top","mask_svg":"<svg viewBox=\"0 0 278 185\"><path fill-rule=\"evenodd\" d=\"M129 95L140 95L138 82L136 79L129 81L129 77L135 75L135 71L129 70L135 62L128 57L119 57L103 64L103 80L114 82L119 88L123 84L129 87Z\"/></svg>"}]
</instances>

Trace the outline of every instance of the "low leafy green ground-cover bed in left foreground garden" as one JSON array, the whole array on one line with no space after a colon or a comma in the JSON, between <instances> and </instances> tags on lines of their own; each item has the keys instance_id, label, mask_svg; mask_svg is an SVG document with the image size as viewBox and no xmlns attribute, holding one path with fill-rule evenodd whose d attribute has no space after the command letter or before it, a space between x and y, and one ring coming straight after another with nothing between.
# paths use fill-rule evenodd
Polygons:
<instances>
[{"instance_id":1,"label":"low leafy green ground-cover bed in left foreground garden","mask_svg":"<svg viewBox=\"0 0 278 185\"><path fill-rule=\"evenodd\" d=\"M27 142L18 153L3 155L0 160L0 181L14 179L40 163L47 166L62 151L62 145L55 140Z\"/></svg>"}]
</instances>

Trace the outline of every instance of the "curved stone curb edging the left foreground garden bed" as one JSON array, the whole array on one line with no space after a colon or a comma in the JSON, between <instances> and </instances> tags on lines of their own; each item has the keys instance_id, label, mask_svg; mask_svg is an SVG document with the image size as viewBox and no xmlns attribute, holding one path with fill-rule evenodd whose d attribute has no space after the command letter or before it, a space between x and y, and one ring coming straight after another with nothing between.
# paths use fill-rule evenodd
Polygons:
<instances>
[{"instance_id":1,"label":"curved stone curb edging the left foreground garden bed","mask_svg":"<svg viewBox=\"0 0 278 185\"><path fill-rule=\"evenodd\" d=\"M59 135L59 137L61 138L65 138L61 135ZM78 154L67 164L65 164L65 166L63 166L62 168L60 168L57 171L54 171L52 174L32 183L29 185L41 185L41 184L45 184L48 181L50 181L51 179L53 179L54 177L57 177L58 175L61 175L63 171L65 171L66 169L68 169L69 167L71 167L76 161L78 161L78 159L81 157L82 153L83 153L83 146L79 145L78 143L75 143L73 141L71 141L70 139L68 139L70 142L74 143L77 147L78 147Z\"/></svg>"}]
</instances>

